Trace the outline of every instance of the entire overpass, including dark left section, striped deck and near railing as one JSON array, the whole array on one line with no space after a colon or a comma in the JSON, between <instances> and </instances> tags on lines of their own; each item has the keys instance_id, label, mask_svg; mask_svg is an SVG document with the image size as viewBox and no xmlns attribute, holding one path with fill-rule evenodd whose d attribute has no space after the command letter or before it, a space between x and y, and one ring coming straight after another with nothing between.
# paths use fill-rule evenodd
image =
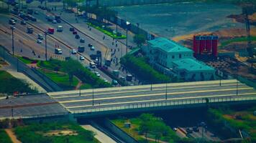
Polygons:
<instances>
[{"instance_id":1,"label":"entire overpass, including dark left section, striped deck and near railing","mask_svg":"<svg viewBox=\"0 0 256 143\"><path fill-rule=\"evenodd\" d=\"M42 117L68 114L80 116L105 114L106 112L129 112L157 107L175 107L185 104L209 102L234 102L256 100L256 90L237 80L209 82L184 82L85 89L80 91L48 92L24 97L0 100L1 117ZM141 110L140 110L141 111ZM111 113L115 114L115 113ZM82 116L82 115L81 115Z\"/></svg>"}]
</instances>

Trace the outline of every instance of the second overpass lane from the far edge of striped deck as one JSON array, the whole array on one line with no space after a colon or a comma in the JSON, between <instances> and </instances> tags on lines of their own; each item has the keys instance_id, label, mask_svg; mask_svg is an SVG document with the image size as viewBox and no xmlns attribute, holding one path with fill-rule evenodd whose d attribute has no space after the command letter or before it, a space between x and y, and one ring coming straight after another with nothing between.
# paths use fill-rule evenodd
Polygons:
<instances>
[{"instance_id":1,"label":"second overpass lane from the far edge of striped deck","mask_svg":"<svg viewBox=\"0 0 256 143\"><path fill-rule=\"evenodd\" d=\"M245 85L240 86L239 88L247 87ZM218 92L218 90L221 89L236 89L236 85L232 86L221 86L221 87L200 87L200 88L191 88L191 89L158 89L158 90L142 90L142 91L137 91L137 92L116 92L116 93L110 93L110 94L95 94L93 93L95 98L103 98L103 97L126 97L126 96L134 96L134 95L140 95L140 94L160 94L160 93L170 93L170 94L177 94L180 92L189 92L191 94L197 93L197 92L207 92L207 91L214 91ZM198 93L199 94L199 93ZM65 97L65 98L55 98L57 101L69 101L69 100L76 100L76 99L88 99L88 94L87 96L77 96L77 97Z\"/></svg>"}]
</instances>

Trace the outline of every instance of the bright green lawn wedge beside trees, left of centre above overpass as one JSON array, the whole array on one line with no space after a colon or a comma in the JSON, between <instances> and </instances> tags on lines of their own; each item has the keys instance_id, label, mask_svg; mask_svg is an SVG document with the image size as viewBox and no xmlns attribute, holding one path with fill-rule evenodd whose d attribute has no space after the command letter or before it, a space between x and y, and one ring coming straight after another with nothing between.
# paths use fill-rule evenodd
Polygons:
<instances>
[{"instance_id":1,"label":"bright green lawn wedge beside trees, left of centre above overpass","mask_svg":"<svg viewBox=\"0 0 256 143\"><path fill-rule=\"evenodd\" d=\"M63 89L74 89L78 85L78 79L76 77L73 77L73 82L71 82L71 85L69 83L69 76L65 73L55 72L55 71L49 71L49 70L43 70L38 69L40 72L45 74L47 77L52 79L53 82L58 84Z\"/></svg>"}]
</instances>

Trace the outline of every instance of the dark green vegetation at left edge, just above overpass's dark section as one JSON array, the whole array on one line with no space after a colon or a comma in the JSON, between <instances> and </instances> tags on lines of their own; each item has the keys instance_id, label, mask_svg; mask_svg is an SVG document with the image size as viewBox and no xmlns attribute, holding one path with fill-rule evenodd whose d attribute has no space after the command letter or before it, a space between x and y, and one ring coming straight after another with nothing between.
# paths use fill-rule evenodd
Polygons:
<instances>
[{"instance_id":1,"label":"dark green vegetation at left edge, just above overpass's dark section","mask_svg":"<svg viewBox=\"0 0 256 143\"><path fill-rule=\"evenodd\" d=\"M27 82L12 77L6 71L0 71L0 93L13 94L14 92L37 93L37 89L32 89Z\"/></svg>"}]
</instances>

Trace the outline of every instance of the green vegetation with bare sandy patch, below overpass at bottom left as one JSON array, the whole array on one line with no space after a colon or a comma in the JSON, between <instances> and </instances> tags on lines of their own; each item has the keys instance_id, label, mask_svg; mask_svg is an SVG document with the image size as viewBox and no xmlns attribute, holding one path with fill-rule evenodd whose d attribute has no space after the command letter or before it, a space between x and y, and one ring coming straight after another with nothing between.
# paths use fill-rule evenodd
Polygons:
<instances>
[{"instance_id":1,"label":"green vegetation with bare sandy patch, below overpass at bottom left","mask_svg":"<svg viewBox=\"0 0 256 143\"><path fill-rule=\"evenodd\" d=\"M68 132L60 132L68 131ZM71 131L71 132L70 132ZM76 142L76 143L98 143L91 131L83 129L73 122L51 122L43 124L27 124L14 129L17 138L21 142ZM59 132L53 134L52 132ZM52 134L50 134L52 133Z\"/></svg>"}]
</instances>

